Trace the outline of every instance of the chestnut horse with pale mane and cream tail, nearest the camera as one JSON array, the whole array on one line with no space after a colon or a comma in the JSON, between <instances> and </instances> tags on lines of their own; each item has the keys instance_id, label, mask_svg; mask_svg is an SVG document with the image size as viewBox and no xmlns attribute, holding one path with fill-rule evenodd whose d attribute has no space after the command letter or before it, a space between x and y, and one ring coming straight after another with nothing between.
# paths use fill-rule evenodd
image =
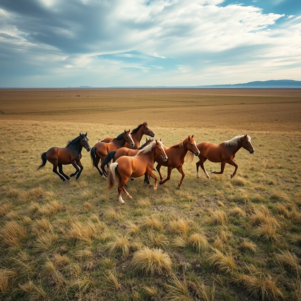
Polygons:
<instances>
[{"instance_id":1,"label":"chestnut horse with pale mane and cream tail, nearest the camera","mask_svg":"<svg viewBox=\"0 0 301 301\"><path fill-rule=\"evenodd\" d=\"M124 185L128 181L129 177L138 178L143 175L152 177L155 179L154 191L157 190L158 180L153 173L154 158L155 156L161 156L163 161L167 160L167 156L164 151L164 145L161 141L153 141L147 145L134 157L122 156L119 157L114 163L110 164L108 174L108 189L112 189L115 184L118 184L118 196L119 202L124 203L121 196L123 190L127 197L132 198L125 190Z\"/></svg>"}]
</instances>

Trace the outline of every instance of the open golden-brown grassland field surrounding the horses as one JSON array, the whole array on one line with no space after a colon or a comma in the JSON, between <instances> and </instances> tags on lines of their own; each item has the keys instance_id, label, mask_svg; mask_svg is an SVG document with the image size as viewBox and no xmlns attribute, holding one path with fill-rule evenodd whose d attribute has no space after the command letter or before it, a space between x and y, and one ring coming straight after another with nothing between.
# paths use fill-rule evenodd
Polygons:
<instances>
[{"instance_id":1,"label":"open golden-brown grassland field surrounding the horses","mask_svg":"<svg viewBox=\"0 0 301 301\"><path fill-rule=\"evenodd\" d=\"M300 116L298 89L1 89L0 298L300 301ZM195 163L180 189L177 170L155 194L135 179L125 205L85 150L77 181L36 171L79 132L92 147L143 121L168 146L247 133L255 153L233 179Z\"/></svg>"}]
</instances>

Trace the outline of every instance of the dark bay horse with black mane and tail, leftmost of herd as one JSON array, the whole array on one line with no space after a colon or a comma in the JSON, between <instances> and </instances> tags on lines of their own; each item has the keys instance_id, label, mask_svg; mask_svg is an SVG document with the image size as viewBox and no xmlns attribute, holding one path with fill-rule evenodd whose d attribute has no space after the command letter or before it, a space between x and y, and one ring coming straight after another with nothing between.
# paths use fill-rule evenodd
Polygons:
<instances>
[{"instance_id":1,"label":"dark bay horse with black mane and tail, leftmost of herd","mask_svg":"<svg viewBox=\"0 0 301 301\"><path fill-rule=\"evenodd\" d=\"M53 165L52 171L57 174L61 180L63 180L63 182L66 182L67 180L71 181L71 179L64 174L63 165L72 164L76 171L71 174L70 177L73 177L77 174L77 180L84 169L82 163L80 162L80 159L82 158L82 148L85 147L88 152L91 150L88 141L89 139L87 138L87 133L79 133L78 137L68 141L66 147L51 147L47 152L42 154L42 164L37 168L37 170L44 168L48 160ZM57 172L57 167L59 173Z\"/></svg>"}]
</instances>

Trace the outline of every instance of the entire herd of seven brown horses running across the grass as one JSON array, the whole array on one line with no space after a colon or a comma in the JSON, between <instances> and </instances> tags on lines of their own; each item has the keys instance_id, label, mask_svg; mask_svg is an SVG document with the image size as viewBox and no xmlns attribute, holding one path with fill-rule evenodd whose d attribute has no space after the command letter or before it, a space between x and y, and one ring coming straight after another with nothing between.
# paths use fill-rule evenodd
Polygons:
<instances>
[{"instance_id":1,"label":"entire herd of seven brown horses running across the grass","mask_svg":"<svg viewBox=\"0 0 301 301\"><path fill-rule=\"evenodd\" d=\"M146 138L146 142L140 146L143 135L148 135L150 138ZM152 139L154 136L154 132L149 128L147 123L144 122L132 132L130 132L130 130L124 130L124 132L116 138L107 137L99 141L91 149L87 133L79 133L79 136L69 141L66 147L51 147L47 152L43 153L41 156L42 164L37 170L44 168L48 160L53 165L52 171L66 182L67 180L70 181L70 178L63 172L63 165L72 164L76 171L72 173L70 177L76 175L76 179L78 179L83 169L80 159L82 158L82 148L84 147L88 152L91 150L90 155L93 166L98 169L102 177L108 179L108 188L111 189L114 185L119 185L119 202L124 203L121 191L124 191L127 197L132 198L124 188L129 178L133 180L133 178L144 175L144 182L149 186L151 186L149 177L154 178L154 191L156 191L157 176L153 172L155 162L158 163L156 169L160 176L159 183L164 184L168 181L172 169L176 168L182 174L182 178L178 184L180 187L185 177L183 171L185 157L191 161L194 156L199 157L199 161L196 163L197 178L199 178L200 166L206 177L210 178L204 168L204 162L207 159L211 162L221 163L221 171L212 171L211 173L222 174L226 163L235 166L235 170L233 174L231 174L231 178L233 178L238 167L233 161L237 151L243 147L249 151L250 154L254 153L251 138L247 134L238 135L220 144L209 142L196 144L194 135L192 135L171 147L164 146L161 139ZM100 161L101 169L99 169L98 166ZM105 169L106 166L108 172ZM166 179L163 179L161 175L161 166L167 167ZM57 172L57 167L59 172Z\"/></svg>"}]
</instances>

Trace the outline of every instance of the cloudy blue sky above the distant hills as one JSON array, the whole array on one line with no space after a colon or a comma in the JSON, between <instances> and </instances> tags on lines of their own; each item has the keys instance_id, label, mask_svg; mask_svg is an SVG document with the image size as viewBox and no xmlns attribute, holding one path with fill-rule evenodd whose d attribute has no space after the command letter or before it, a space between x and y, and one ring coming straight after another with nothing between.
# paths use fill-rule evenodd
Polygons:
<instances>
[{"instance_id":1,"label":"cloudy blue sky above the distant hills","mask_svg":"<svg viewBox=\"0 0 301 301\"><path fill-rule=\"evenodd\" d=\"M0 87L301 80L299 0L0 0Z\"/></svg>"}]
</instances>

